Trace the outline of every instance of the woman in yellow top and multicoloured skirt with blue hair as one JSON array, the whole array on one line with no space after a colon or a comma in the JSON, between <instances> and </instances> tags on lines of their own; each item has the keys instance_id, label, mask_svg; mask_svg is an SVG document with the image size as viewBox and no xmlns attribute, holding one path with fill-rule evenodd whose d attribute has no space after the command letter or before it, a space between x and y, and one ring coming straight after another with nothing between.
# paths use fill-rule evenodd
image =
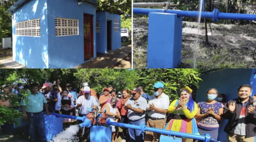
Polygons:
<instances>
[{"instance_id":1,"label":"woman in yellow top and multicoloured skirt with blue hair","mask_svg":"<svg viewBox=\"0 0 256 142\"><path fill-rule=\"evenodd\" d=\"M172 113L172 119L167 124L166 130L191 133L199 135L196 119L198 111L196 102L192 99L192 89L188 86L180 90L180 99L174 100L169 108L168 113ZM185 142L186 138L182 139Z\"/></svg>"}]
</instances>

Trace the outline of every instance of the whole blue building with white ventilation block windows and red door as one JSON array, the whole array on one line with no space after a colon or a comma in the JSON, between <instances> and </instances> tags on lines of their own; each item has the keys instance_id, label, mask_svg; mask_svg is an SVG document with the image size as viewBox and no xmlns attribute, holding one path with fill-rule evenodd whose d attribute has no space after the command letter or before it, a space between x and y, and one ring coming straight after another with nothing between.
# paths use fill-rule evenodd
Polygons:
<instances>
[{"instance_id":1,"label":"whole blue building with white ventilation block windows and red door","mask_svg":"<svg viewBox=\"0 0 256 142\"><path fill-rule=\"evenodd\" d=\"M73 68L95 58L97 52L118 49L121 17L96 13L96 5L95 0L18 0L8 9L13 60L28 68ZM96 32L97 17L106 19L98 22L100 32ZM109 48L107 39L111 39Z\"/></svg>"}]
</instances>

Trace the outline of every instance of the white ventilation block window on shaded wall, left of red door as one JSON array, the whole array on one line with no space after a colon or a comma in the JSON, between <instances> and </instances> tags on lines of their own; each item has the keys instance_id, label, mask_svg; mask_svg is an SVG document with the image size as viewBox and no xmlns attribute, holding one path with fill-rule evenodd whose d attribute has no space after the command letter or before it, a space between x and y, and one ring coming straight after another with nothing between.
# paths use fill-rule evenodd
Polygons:
<instances>
[{"instance_id":1,"label":"white ventilation block window on shaded wall, left of red door","mask_svg":"<svg viewBox=\"0 0 256 142\"><path fill-rule=\"evenodd\" d=\"M55 35L78 35L78 19L55 18Z\"/></svg>"}]
</instances>

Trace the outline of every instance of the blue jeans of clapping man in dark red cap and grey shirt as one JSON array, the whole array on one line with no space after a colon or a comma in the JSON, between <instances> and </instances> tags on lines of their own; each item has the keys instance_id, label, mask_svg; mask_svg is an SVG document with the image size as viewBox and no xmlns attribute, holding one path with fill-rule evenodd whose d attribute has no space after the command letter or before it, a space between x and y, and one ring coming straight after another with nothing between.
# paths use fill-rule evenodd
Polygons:
<instances>
[{"instance_id":1,"label":"blue jeans of clapping man in dark red cap and grey shirt","mask_svg":"<svg viewBox=\"0 0 256 142\"><path fill-rule=\"evenodd\" d=\"M141 126L142 124L145 124L145 118L137 120L137 121L131 121L128 119L128 124ZM141 132L141 130L131 129L128 128L129 135L131 137L130 142L143 142L144 141L144 132Z\"/></svg>"}]
</instances>

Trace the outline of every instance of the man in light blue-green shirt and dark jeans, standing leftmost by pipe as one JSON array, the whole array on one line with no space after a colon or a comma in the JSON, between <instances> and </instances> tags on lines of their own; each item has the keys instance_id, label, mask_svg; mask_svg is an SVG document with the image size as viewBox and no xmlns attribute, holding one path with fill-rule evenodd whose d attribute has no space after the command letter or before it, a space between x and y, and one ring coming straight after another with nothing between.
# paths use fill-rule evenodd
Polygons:
<instances>
[{"instance_id":1,"label":"man in light blue-green shirt and dark jeans, standing leftmost by pipe","mask_svg":"<svg viewBox=\"0 0 256 142\"><path fill-rule=\"evenodd\" d=\"M31 141L36 141L35 131L36 128L38 130L40 140L46 141L44 134L44 115L43 115L43 107L46 110L46 114L50 115L48 111L47 101L44 98L42 93L38 92L38 85L36 83L32 83L30 85L30 93L28 95L28 101L21 100L20 105L22 108L23 119L28 120L29 127L28 133Z\"/></svg>"}]
</instances>

